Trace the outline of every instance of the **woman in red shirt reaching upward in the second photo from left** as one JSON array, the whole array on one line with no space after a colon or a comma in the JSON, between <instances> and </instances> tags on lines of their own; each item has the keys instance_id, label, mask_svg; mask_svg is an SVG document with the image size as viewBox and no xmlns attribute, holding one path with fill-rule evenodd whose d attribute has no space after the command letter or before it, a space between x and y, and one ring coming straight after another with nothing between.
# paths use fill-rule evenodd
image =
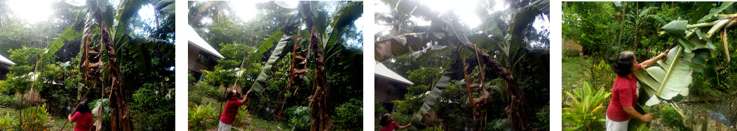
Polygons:
<instances>
[{"instance_id":1,"label":"woman in red shirt reaching upward in the second photo from left","mask_svg":"<svg viewBox=\"0 0 737 131\"><path fill-rule=\"evenodd\" d=\"M226 108L223 110L223 114L220 115L220 124L217 125L217 131L231 130L235 116L238 115L238 108L245 103L245 100L248 100L248 94L251 94L251 91L246 92L242 100L238 100L240 94L237 91L228 92L226 95L228 96L226 97L228 98L228 102L226 103Z\"/></svg>"}]
</instances>

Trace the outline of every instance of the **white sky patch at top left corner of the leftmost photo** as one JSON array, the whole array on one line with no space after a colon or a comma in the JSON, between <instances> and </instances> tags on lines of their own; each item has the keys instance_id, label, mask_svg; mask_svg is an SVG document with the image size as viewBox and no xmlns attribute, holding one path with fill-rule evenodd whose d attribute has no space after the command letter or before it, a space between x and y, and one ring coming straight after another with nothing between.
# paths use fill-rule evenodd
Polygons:
<instances>
[{"instance_id":1,"label":"white sky patch at top left corner of the leftmost photo","mask_svg":"<svg viewBox=\"0 0 737 131\"><path fill-rule=\"evenodd\" d=\"M49 15L54 11L51 4L54 0L10 0L7 1L10 10L13 10L16 18L28 20L29 23L49 20Z\"/></svg>"}]
</instances>

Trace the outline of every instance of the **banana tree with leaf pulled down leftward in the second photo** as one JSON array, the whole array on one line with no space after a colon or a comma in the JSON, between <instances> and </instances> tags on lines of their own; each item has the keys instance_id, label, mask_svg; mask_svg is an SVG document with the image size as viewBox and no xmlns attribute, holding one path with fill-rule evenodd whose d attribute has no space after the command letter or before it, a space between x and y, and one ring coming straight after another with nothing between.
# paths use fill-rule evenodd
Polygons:
<instances>
[{"instance_id":1,"label":"banana tree with leaf pulled down leftward in the second photo","mask_svg":"<svg viewBox=\"0 0 737 131\"><path fill-rule=\"evenodd\" d=\"M278 5L277 5L278 6ZM363 15L363 2L353 1L349 2L343 7L335 10L332 15L332 22L328 23L327 12L322 10L320 7L320 1L300 1L297 7L297 16L301 22L306 26L307 31L304 33L297 33L295 42L307 42L307 46L304 50L301 46L295 44L295 48L292 51L292 63L290 66L290 86L295 82L293 78L303 78L307 73L314 74L314 78L310 78L311 85L315 90L315 94L310 97L310 118L312 119L310 124L310 130L329 130L332 126L332 120L329 118L329 111L335 108L335 99L332 99L329 93L329 87L326 86L326 73L335 72L338 68L350 68L360 64L354 62L354 57L360 57L360 53L353 51L344 50L347 45L345 42L340 42L343 34L348 30L349 26ZM300 26L302 24L299 24ZM277 32L279 33L279 32ZM281 59L284 54L284 46L287 45L291 34L284 35L284 38L279 41L276 45L273 53L264 68L256 78L256 83L251 86L250 91L261 94L265 89L267 79L271 78L274 71L271 69L273 64L278 59ZM301 40L301 37L307 37L307 40ZM269 39L276 40L276 39ZM256 53L263 53L270 47L260 48ZM308 71L307 64L308 59L312 61L311 64L315 65L315 70ZM340 65L340 66L338 66ZM287 87L288 88L288 87Z\"/></svg>"}]
</instances>

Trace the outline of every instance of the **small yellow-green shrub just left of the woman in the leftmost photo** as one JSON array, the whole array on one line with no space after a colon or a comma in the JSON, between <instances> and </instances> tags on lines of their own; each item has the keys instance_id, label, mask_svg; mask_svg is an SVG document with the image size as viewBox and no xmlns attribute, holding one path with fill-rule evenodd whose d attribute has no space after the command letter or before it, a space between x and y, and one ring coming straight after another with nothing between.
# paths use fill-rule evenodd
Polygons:
<instances>
[{"instance_id":1,"label":"small yellow-green shrub just left of the woman in the leftmost photo","mask_svg":"<svg viewBox=\"0 0 737 131\"><path fill-rule=\"evenodd\" d=\"M48 130L51 127L51 115L46 112L46 105L33 106L24 108L21 121L21 127L24 130Z\"/></svg>"}]
</instances>

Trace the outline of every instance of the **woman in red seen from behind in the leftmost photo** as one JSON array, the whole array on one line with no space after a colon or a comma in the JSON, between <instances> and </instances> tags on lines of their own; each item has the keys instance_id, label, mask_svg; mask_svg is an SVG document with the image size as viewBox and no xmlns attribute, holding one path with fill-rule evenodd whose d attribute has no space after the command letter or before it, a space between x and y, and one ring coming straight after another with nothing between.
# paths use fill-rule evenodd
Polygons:
<instances>
[{"instance_id":1,"label":"woman in red seen from behind in the leftmost photo","mask_svg":"<svg viewBox=\"0 0 737 131\"><path fill-rule=\"evenodd\" d=\"M74 131L94 130L92 129L94 127L92 125L92 114L90 113L90 108L87 106L87 102L77 105L77 112L72 114L69 114L67 119L72 123L77 122L77 125L74 125Z\"/></svg>"}]
</instances>

